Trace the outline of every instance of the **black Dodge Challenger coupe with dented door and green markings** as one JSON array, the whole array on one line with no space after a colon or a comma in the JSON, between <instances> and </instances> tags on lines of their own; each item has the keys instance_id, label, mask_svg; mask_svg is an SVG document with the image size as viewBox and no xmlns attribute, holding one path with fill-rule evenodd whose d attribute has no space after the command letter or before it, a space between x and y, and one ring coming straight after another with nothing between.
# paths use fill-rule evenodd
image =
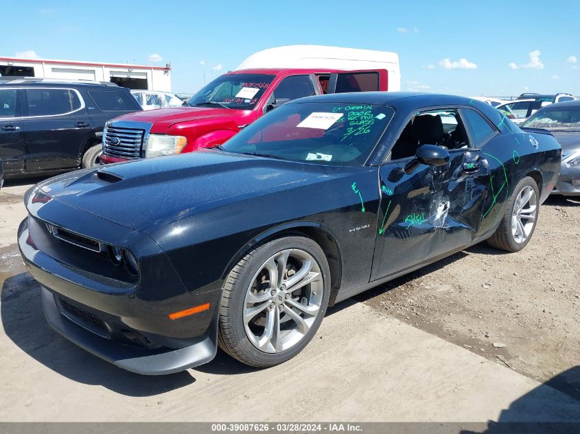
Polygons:
<instances>
[{"instance_id":1,"label":"black Dodge Challenger coupe with dented door and green markings","mask_svg":"<svg viewBox=\"0 0 580 434\"><path fill-rule=\"evenodd\" d=\"M560 156L463 97L308 97L213 149L41 182L18 241L49 324L98 357L168 374L219 345L266 367L340 300L483 240L524 248Z\"/></svg>"}]
</instances>

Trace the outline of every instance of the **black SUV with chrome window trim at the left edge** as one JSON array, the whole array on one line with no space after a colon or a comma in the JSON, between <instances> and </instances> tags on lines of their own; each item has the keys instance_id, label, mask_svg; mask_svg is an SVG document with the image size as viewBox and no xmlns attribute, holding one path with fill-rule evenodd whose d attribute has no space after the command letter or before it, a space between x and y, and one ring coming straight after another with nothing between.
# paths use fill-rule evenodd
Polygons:
<instances>
[{"instance_id":1,"label":"black SUV with chrome window trim at the left edge","mask_svg":"<svg viewBox=\"0 0 580 434\"><path fill-rule=\"evenodd\" d=\"M113 83L0 80L0 160L4 177L92 167L106 121L140 111Z\"/></svg>"}]
</instances>

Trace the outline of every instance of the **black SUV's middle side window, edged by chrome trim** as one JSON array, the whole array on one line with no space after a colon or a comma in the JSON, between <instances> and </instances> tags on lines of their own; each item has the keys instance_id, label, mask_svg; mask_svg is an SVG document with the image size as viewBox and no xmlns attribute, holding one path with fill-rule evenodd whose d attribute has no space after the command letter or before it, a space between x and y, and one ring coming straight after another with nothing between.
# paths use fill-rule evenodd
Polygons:
<instances>
[{"instance_id":1,"label":"black SUV's middle side window, edged by chrome trim","mask_svg":"<svg viewBox=\"0 0 580 434\"><path fill-rule=\"evenodd\" d=\"M29 116L54 116L81 108L76 92L70 89L26 89Z\"/></svg>"}]
</instances>

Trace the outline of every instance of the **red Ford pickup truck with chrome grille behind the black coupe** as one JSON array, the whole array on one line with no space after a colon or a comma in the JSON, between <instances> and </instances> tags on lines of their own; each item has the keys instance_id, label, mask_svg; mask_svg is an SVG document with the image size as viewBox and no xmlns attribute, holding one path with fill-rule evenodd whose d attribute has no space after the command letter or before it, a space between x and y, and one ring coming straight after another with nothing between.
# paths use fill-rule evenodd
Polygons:
<instances>
[{"instance_id":1,"label":"red Ford pickup truck with chrome grille behind the black coupe","mask_svg":"<svg viewBox=\"0 0 580 434\"><path fill-rule=\"evenodd\" d=\"M244 69L221 75L183 106L125 114L103 132L101 162L220 145L266 112L321 93L387 91L386 69Z\"/></svg>"}]
</instances>

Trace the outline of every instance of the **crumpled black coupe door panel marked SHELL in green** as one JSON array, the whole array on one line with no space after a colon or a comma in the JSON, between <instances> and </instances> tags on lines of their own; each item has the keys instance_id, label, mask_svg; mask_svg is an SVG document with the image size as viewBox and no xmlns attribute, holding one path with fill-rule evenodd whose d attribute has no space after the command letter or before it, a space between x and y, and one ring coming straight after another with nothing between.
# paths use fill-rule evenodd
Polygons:
<instances>
[{"instance_id":1,"label":"crumpled black coupe door panel marked SHELL in green","mask_svg":"<svg viewBox=\"0 0 580 434\"><path fill-rule=\"evenodd\" d=\"M469 245L476 237L489 184L489 165L477 149L450 152L448 165L408 160L380 171L380 224L371 280Z\"/></svg>"}]
</instances>

